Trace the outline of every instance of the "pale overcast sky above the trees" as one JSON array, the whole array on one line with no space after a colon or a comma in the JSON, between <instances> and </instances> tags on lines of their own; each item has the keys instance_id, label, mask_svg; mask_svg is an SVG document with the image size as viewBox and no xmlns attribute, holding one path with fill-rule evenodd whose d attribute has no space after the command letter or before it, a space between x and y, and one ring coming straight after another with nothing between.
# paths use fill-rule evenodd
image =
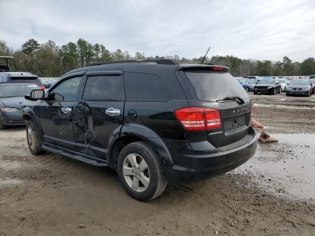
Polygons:
<instances>
[{"instance_id":1,"label":"pale overcast sky above the trees","mask_svg":"<svg viewBox=\"0 0 315 236\"><path fill-rule=\"evenodd\" d=\"M315 0L0 0L0 39L58 45L84 38L111 52L315 57Z\"/></svg>"}]
</instances>

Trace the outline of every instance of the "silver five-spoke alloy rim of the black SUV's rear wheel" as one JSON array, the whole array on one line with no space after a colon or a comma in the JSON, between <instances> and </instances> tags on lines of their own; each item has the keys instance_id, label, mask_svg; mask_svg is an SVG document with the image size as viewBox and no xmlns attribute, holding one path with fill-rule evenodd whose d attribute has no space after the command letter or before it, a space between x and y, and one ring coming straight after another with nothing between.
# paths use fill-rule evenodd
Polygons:
<instances>
[{"instance_id":1,"label":"silver five-spoke alloy rim of the black SUV's rear wheel","mask_svg":"<svg viewBox=\"0 0 315 236\"><path fill-rule=\"evenodd\" d=\"M123 163L123 174L128 186L136 192L144 192L150 184L147 162L135 153L128 154Z\"/></svg>"}]
</instances>

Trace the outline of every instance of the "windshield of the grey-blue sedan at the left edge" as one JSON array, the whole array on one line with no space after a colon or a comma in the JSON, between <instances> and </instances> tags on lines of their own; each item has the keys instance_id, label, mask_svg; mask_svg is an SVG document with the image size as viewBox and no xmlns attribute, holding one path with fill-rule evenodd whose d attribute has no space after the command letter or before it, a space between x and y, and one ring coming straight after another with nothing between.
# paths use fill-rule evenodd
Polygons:
<instances>
[{"instance_id":1,"label":"windshield of the grey-blue sedan at the left edge","mask_svg":"<svg viewBox=\"0 0 315 236\"><path fill-rule=\"evenodd\" d=\"M2 97L21 97L29 95L33 89L39 89L37 85L21 85L21 84L10 84L0 85L0 98Z\"/></svg>"}]
</instances>

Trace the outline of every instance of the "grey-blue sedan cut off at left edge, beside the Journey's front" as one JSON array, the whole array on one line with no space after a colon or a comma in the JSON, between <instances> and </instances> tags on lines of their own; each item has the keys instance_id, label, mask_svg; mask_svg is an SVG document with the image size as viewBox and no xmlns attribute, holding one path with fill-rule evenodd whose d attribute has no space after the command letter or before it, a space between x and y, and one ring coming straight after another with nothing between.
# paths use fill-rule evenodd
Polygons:
<instances>
[{"instance_id":1,"label":"grey-blue sedan cut off at left edge, beside the Journey's front","mask_svg":"<svg viewBox=\"0 0 315 236\"><path fill-rule=\"evenodd\" d=\"M35 84L0 84L0 129L7 126L25 125L21 116L24 98L33 89L39 89Z\"/></svg>"}]
</instances>

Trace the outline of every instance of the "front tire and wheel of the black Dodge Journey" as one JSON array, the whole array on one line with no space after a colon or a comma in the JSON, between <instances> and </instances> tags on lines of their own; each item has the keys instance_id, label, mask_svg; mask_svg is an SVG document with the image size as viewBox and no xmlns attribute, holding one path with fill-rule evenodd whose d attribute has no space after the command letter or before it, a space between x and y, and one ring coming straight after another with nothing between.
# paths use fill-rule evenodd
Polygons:
<instances>
[{"instance_id":1,"label":"front tire and wheel of the black Dodge Journey","mask_svg":"<svg viewBox=\"0 0 315 236\"><path fill-rule=\"evenodd\" d=\"M34 124L32 120L29 120L26 123L26 137L28 140L28 145L31 153L34 156L40 155L45 151L41 148L41 143L39 141L38 132L34 130Z\"/></svg>"}]
</instances>

